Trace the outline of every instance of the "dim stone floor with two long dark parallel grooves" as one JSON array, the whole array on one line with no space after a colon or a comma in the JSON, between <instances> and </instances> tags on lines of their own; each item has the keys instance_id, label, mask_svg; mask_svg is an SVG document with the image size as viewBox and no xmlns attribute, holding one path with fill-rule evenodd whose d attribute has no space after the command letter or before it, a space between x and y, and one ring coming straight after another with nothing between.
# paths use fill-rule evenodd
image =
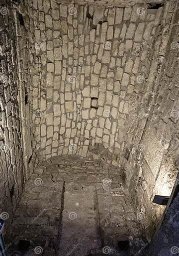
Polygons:
<instances>
[{"instance_id":1,"label":"dim stone floor with two long dark parallel grooves","mask_svg":"<svg viewBox=\"0 0 179 256\"><path fill-rule=\"evenodd\" d=\"M7 248L24 256L118 255L118 241L139 233L124 180L122 169L102 160L42 162L25 184ZM20 239L30 241L28 251L17 247Z\"/></svg>"}]
</instances>

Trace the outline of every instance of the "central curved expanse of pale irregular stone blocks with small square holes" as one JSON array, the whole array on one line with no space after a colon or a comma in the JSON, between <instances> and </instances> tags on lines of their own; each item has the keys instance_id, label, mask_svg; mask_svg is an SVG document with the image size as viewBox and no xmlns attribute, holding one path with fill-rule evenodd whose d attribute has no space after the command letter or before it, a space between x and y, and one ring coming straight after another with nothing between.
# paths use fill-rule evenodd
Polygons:
<instances>
[{"instance_id":1,"label":"central curved expanse of pale irregular stone blocks with small square holes","mask_svg":"<svg viewBox=\"0 0 179 256\"><path fill-rule=\"evenodd\" d=\"M127 129L137 126L161 11L29 5L34 148L41 158L99 158L89 147L100 143L110 153L122 149ZM116 157L109 161L117 166Z\"/></svg>"}]
</instances>

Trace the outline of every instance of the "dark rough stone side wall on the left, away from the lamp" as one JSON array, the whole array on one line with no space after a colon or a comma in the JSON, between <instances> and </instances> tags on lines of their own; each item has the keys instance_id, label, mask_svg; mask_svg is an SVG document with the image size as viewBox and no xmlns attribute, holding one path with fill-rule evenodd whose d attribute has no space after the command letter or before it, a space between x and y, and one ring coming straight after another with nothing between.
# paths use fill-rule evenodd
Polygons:
<instances>
[{"instance_id":1,"label":"dark rough stone side wall on the left, away from the lamp","mask_svg":"<svg viewBox=\"0 0 179 256\"><path fill-rule=\"evenodd\" d=\"M0 6L0 217L6 221L12 220L24 182L33 171L27 59L23 18L16 5L4 2Z\"/></svg>"}]
</instances>

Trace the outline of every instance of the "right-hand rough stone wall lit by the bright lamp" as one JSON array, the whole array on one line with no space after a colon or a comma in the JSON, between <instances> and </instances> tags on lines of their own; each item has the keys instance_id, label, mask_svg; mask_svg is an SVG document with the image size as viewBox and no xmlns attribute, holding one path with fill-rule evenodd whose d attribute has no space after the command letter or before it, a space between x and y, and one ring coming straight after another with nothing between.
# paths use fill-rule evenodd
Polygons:
<instances>
[{"instance_id":1,"label":"right-hand rough stone wall lit by the bright lamp","mask_svg":"<svg viewBox=\"0 0 179 256\"><path fill-rule=\"evenodd\" d=\"M126 143L124 149L123 164L130 180L131 195L138 206L140 222L149 240L165 209L165 206L152 203L154 195L170 196L179 171L177 10L177 1L172 1L166 6L162 40L158 43L160 61L155 73L155 83L149 88L153 94L150 109L141 114L146 120L145 128L142 134L138 129L137 136L133 139L134 143Z\"/></svg>"}]
</instances>

